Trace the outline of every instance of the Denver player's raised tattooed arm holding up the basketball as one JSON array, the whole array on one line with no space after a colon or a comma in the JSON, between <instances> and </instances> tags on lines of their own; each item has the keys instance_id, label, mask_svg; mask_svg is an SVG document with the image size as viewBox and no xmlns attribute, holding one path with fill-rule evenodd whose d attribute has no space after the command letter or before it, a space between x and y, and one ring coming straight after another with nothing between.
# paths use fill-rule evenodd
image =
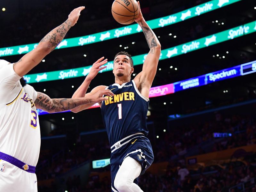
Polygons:
<instances>
[{"instance_id":1,"label":"Denver player's raised tattooed arm holding up the basketball","mask_svg":"<svg viewBox=\"0 0 256 192\"><path fill-rule=\"evenodd\" d=\"M138 4L140 7L140 2L138 2ZM157 65L161 54L161 44L158 41L155 33L151 28L149 28L148 24L143 18L141 10L136 22L142 28L150 51L144 61L142 71L134 78L134 81L140 93L144 97L148 98L149 90L156 76Z\"/></svg>"}]
</instances>

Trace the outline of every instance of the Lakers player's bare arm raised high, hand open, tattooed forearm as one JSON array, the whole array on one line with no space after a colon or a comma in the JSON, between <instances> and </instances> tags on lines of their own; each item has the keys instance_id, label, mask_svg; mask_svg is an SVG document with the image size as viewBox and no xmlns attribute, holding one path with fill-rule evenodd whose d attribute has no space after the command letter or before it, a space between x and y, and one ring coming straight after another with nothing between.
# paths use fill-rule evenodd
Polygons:
<instances>
[{"instance_id":1,"label":"Lakers player's bare arm raised high, hand open, tattooed forearm","mask_svg":"<svg viewBox=\"0 0 256 192\"><path fill-rule=\"evenodd\" d=\"M67 34L68 30L76 24L80 12L84 8L84 6L78 7L70 12L68 19L64 23L49 32L34 50L24 55L18 62L14 63L14 71L19 76L24 76L32 68L38 65L47 54L57 47Z\"/></svg>"}]
</instances>

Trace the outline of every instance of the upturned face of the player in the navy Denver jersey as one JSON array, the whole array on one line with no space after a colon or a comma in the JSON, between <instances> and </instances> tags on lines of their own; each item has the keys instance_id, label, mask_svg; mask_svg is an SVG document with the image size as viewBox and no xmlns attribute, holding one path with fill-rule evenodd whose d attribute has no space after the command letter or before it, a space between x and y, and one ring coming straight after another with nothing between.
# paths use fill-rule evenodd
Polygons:
<instances>
[{"instance_id":1,"label":"upturned face of the player in the navy Denver jersey","mask_svg":"<svg viewBox=\"0 0 256 192\"><path fill-rule=\"evenodd\" d=\"M126 77L131 76L133 73L133 68L130 64L130 58L126 55L118 55L114 60L113 73L115 77Z\"/></svg>"}]
</instances>

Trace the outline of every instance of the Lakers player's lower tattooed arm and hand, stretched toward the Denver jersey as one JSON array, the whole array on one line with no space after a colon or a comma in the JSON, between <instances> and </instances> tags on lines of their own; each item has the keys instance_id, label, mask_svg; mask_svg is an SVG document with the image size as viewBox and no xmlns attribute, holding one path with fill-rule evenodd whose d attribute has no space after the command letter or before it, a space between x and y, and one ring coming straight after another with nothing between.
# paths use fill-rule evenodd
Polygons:
<instances>
[{"instance_id":1,"label":"Lakers player's lower tattooed arm and hand, stretched toward the Denver jersey","mask_svg":"<svg viewBox=\"0 0 256 192\"><path fill-rule=\"evenodd\" d=\"M103 98L103 95L113 96L114 94L107 90L101 90L94 94L88 95L83 98L74 98L74 99L51 99L48 95L37 92L37 98L35 101L36 108L42 109L48 113L55 113L61 111L71 110L78 106L88 104L88 103L98 103L106 98Z\"/></svg>"}]
</instances>

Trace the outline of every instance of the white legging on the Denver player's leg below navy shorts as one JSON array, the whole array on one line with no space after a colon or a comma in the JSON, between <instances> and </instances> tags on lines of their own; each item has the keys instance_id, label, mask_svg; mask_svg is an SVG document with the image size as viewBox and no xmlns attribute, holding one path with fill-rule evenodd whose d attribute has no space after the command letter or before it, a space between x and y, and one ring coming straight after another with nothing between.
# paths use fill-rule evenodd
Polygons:
<instances>
[{"instance_id":1,"label":"white legging on the Denver player's leg below navy shorts","mask_svg":"<svg viewBox=\"0 0 256 192\"><path fill-rule=\"evenodd\" d=\"M114 186L118 192L143 192L133 181L139 177L141 165L132 157L126 157L116 173Z\"/></svg>"}]
</instances>

